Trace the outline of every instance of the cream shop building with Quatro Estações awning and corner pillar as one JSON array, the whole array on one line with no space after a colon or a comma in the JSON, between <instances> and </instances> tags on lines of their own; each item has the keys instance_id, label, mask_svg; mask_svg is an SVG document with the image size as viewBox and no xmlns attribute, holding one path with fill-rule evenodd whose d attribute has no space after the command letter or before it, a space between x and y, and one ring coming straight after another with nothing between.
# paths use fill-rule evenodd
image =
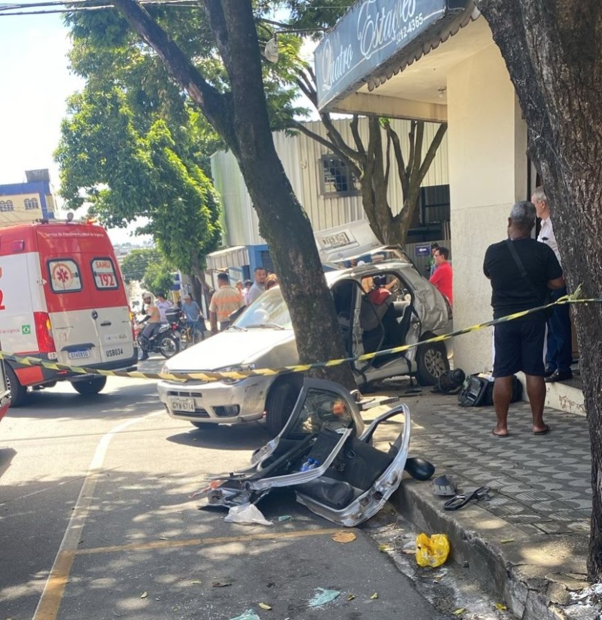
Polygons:
<instances>
[{"instance_id":1,"label":"cream shop building with Quatro Esta\u00e7\u00f5es awning and corner pillar","mask_svg":"<svg viewBox=\"0 0 602 620\"><path fill-rule=\"evenodd\" d=\"M527 125L489 25L472 0L359 0L316 49L318 106L448 122L454 325L491 319L482 264L536 175ZM490 329L453 344L466 372L492 366Z\"/></svg>"}]
</instances>

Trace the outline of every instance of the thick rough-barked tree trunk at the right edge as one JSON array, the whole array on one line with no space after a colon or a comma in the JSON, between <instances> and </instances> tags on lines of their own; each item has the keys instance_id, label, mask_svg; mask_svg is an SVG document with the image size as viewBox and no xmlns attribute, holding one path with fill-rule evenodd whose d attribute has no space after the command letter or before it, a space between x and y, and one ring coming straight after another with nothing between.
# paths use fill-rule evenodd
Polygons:
<instances>
[{"instance_id":1,"label":"thick rough-barked tree trunk at the right edge","mask_svg":"<svg viewBox=\"0 0 602 620\"><path fill-rule=\"evenodd\" d=\"M567 286L602 291L602 7L599 0L477 0L529 125ZM602 312L572 307L592 443L587 568L602 581Z\"/></svg>"}]
</instances>

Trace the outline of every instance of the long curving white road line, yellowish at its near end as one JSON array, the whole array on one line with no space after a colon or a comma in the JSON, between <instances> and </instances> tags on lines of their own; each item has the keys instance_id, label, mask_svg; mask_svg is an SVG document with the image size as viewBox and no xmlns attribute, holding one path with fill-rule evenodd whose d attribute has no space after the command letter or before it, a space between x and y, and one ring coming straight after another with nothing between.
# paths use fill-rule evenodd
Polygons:
<instances>
[{"instance_id":1,"label":"long curving white road line, yellowish at its near end","mask_svg":"<svg viewBox=\"0 0 602 620\"><path fill-rule=\"evenodd\" d=\"M77 553L77 544L82 538L84 523L86 522L94 498L96 482L98 481L99 475L103 472L102 463L104 462L104 457L107 455L107 449L109 448L111 439L128 426L155 415L159 415L159 413L155 412L122 422L103 435L102 439L98 442L98 446L96 446L94 456L92 457L92 462L88 468L88 473L86 473L84 484L82 484L80 495L77 496L71 518L67 524L63 540L57 552L57 556L55 557L51 572L46 579L46 585L44 585L42 596L40 596L37 603L32 620L55 620L57 617L65 586L69 581L69 573L71 572L73 559Z\"/></svg>"}]
</instances>

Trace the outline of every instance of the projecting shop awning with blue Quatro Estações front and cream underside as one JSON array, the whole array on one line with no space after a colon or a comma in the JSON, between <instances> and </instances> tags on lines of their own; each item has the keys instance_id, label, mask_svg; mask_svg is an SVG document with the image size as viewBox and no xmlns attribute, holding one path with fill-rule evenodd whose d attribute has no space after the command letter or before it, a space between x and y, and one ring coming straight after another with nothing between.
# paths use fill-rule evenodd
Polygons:
<instances>
[{"instance_id":1,"label":"projecting shop awning with blue Quatro Esta\u00e7\u00f5es front and cream underside","mask_svg":"<svg viewBox=\"0 0 602 620\"><path fill-rule=\"evenodd\" d=\"M474 53L474 46L458 46L448 58L441 58L440 46L479 16L473 0L359 1L316 48L318 109L446 120L446 70L439 69ZM475 45L482 41L491 42L491 33ZM403 97L398 93L392 103L385 89L372 93L432 51L438 56L432 75L421 71Z\"/></svg>"}]
</instances>

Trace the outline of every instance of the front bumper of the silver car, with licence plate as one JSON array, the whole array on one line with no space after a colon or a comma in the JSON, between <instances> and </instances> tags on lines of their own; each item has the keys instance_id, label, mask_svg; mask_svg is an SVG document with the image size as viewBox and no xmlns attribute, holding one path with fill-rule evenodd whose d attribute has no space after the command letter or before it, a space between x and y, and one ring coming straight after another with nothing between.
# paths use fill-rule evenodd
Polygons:
<instances>
[{"instance_id":1,"label":"front bumper of the silver car, with licence plate","mask_svg":"<svg viewBox=\"0 0 602 620\"><path fill-rule=\"evenodd\" d=\"M157 384L159 400L170 417L194 423L232 424L263 417L266 395L273 379L253 376L237 383Z\"/></svg>"}]
</instances>

